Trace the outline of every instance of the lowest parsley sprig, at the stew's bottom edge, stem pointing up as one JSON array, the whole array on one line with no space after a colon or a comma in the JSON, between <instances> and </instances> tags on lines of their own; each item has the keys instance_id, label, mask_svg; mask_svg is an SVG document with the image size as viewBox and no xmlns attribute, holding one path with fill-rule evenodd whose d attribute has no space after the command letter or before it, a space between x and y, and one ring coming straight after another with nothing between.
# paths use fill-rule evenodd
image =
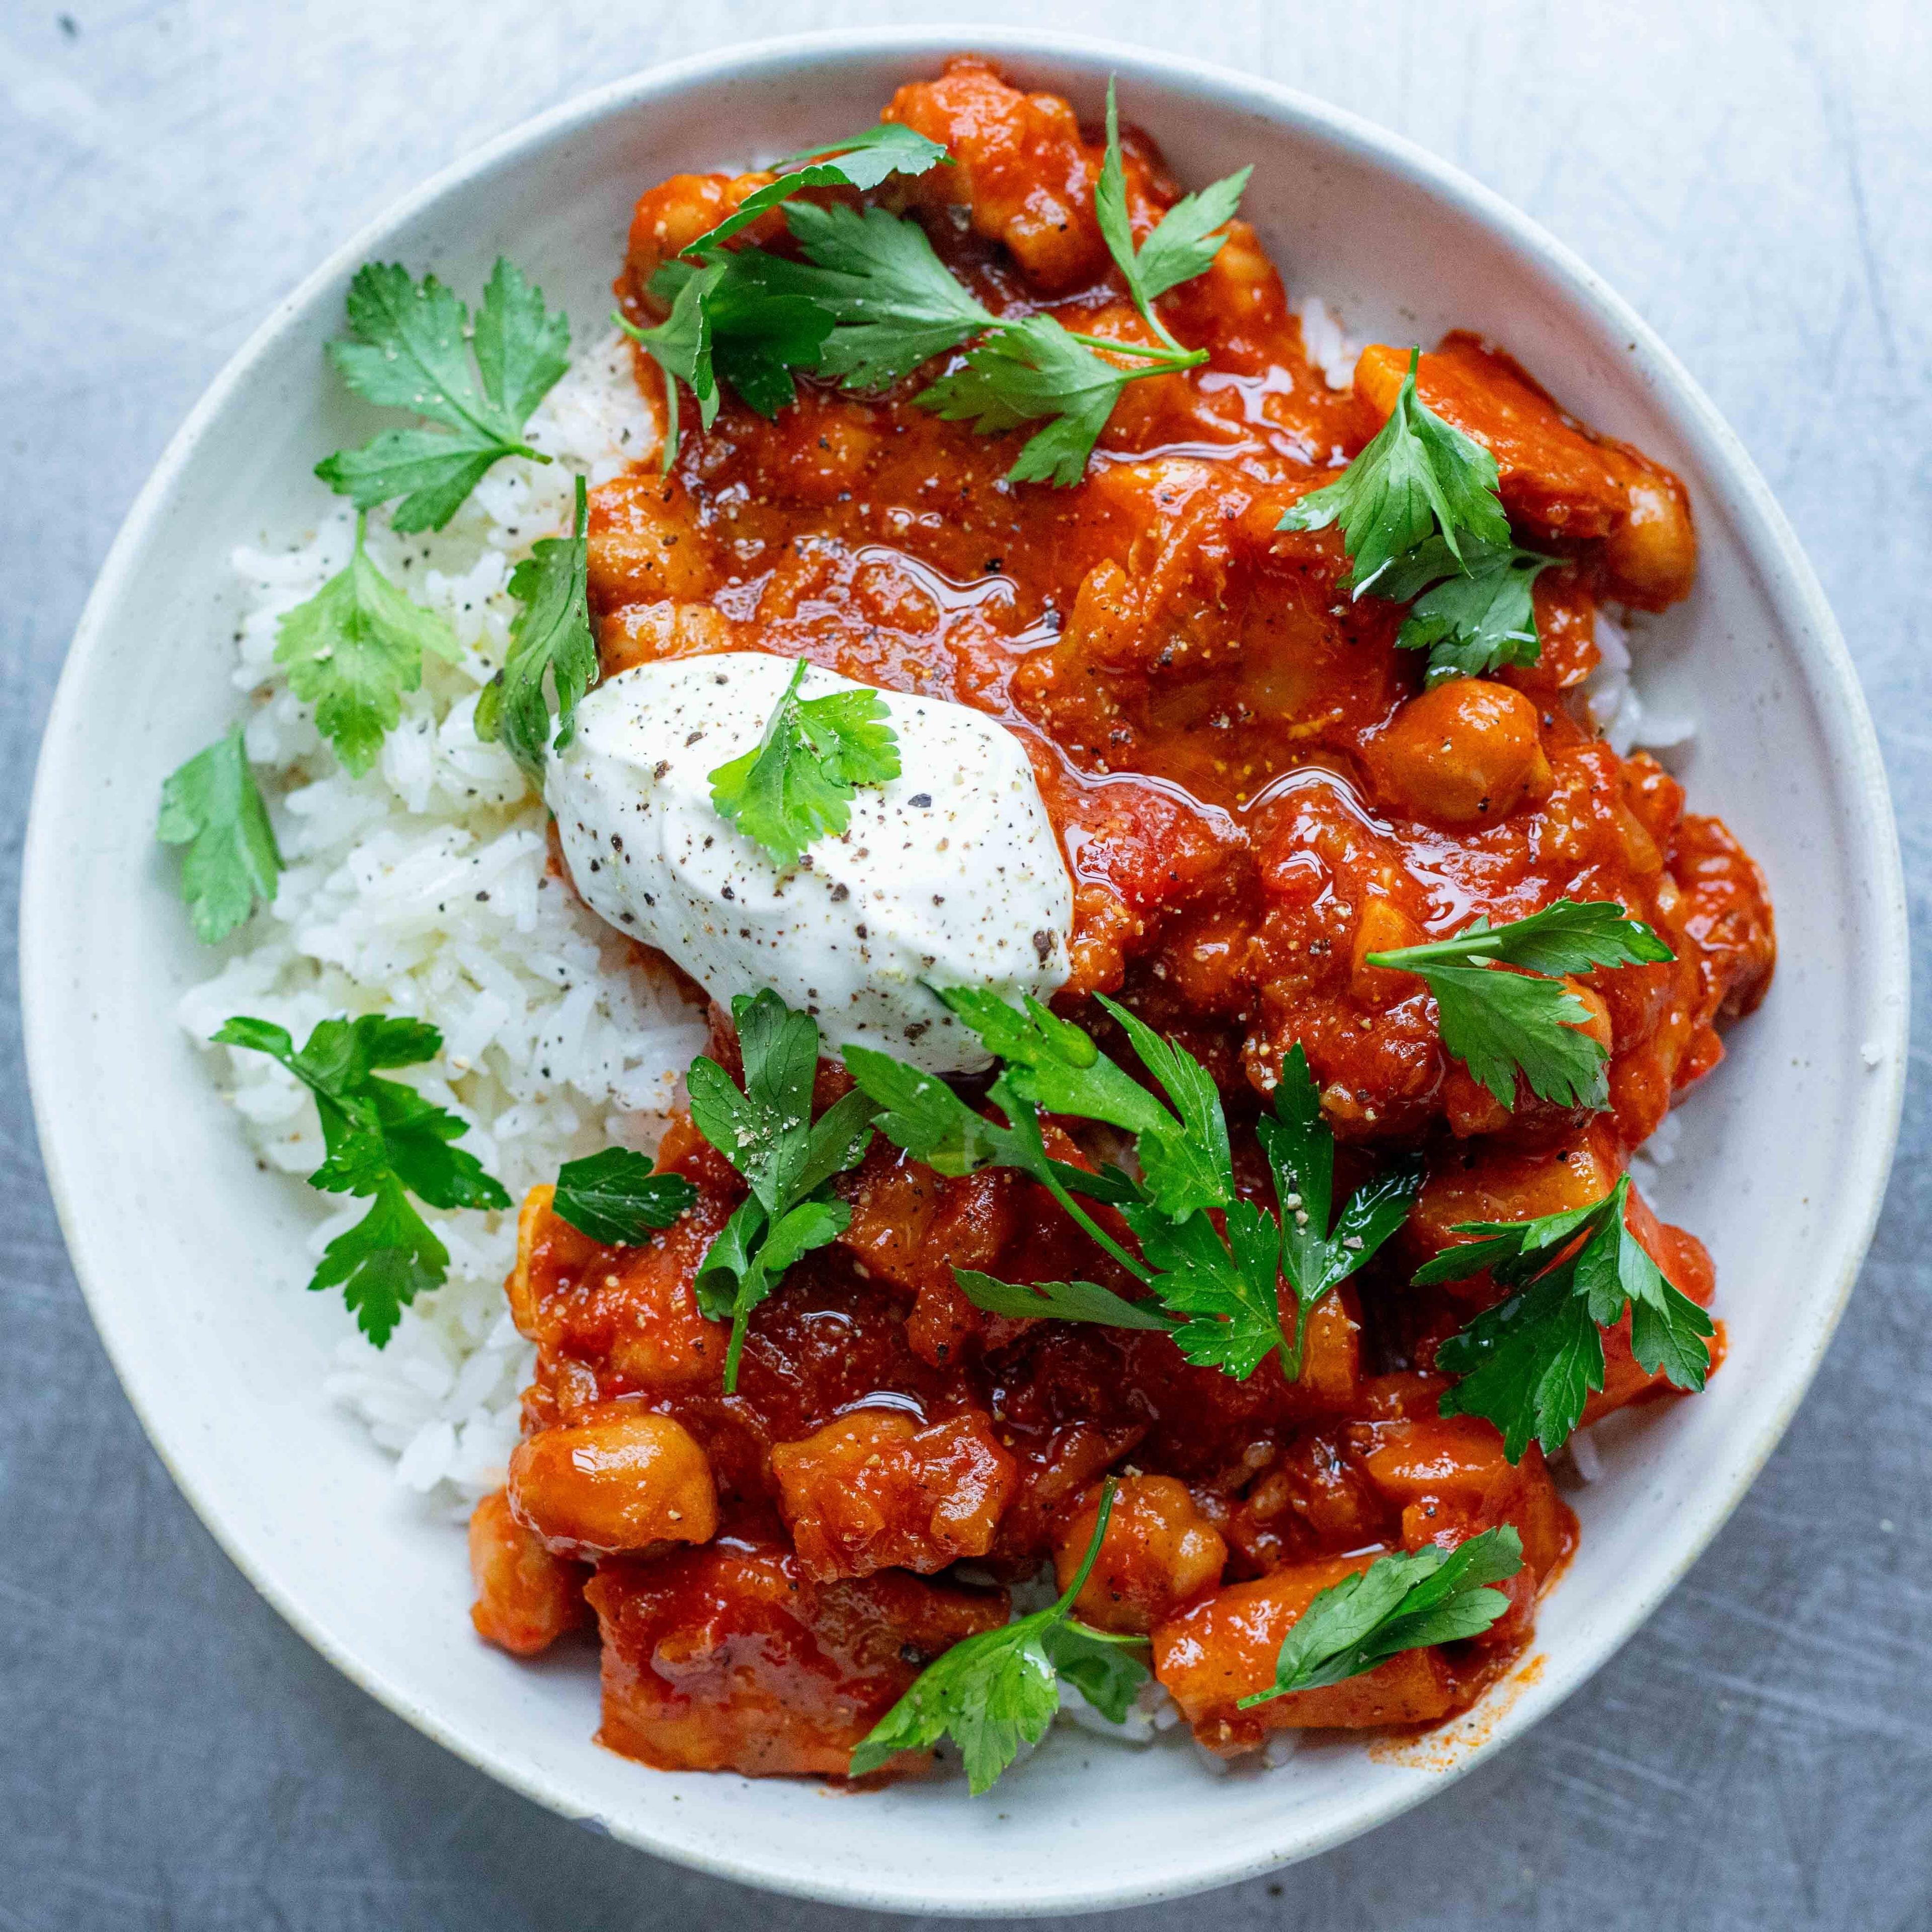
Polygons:
<instances>
[{"instance_id":1,"label":"lowest parsley sprig, at the stew's bottom edge, stem pointing up","mask_svg":"<svg viewBox=\"0 0 1932 1932\"><path fill-rule=\"evenodd\" d=\"M983 1797L1022 1743L1037 1745L1047 1735L1061 1708L1061 1677L1101 1716L1126 1719L1148 1681L1148 1667L1134 1656L1146 1638L1095 1631L1072 1613L1099 1559L1113 1499L1115 1484L1107 1482L1094 1536L1066 1590L1045 1609L968 1636L927 1663L852 1750L854 1777L879 1770L900 1750L929 1750L951 1735L966 1764L966 1789Z\"/></svg>"}]
</instances>

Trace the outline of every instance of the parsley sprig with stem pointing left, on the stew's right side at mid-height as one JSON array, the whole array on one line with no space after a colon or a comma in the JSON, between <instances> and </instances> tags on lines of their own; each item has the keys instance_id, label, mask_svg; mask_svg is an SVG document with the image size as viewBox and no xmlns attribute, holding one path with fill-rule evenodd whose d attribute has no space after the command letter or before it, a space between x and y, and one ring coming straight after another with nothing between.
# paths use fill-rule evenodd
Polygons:
<instances>
[{"instance_id":1,"label":"parsley sprig with stem pointing left, on the stew's right side at mid-height","mask_svg":"<svg viewBox=\"0 0 1932 1932\"><path fill-rule=\"evenodd\" d=\"M1435 995L1443 1047L1505 1107L1517 1076L1559 1107L1609 1105L1609 1051L1578 1032L1590 1009L1544 974L1634 966L1677 954L1615 900L1559 898L1507 925L1478 918L1453 939L1370 952L1370 966L1418 974ZM1520 972L1499 972L1519 966Z\"/></svg>"}]
</instances>

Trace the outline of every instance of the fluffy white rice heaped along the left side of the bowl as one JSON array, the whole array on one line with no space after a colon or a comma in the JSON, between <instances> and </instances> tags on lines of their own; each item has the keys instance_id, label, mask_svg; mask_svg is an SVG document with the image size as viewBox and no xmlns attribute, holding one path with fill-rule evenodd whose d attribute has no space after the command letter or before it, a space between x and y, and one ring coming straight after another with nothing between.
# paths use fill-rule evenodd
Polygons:
<instances>
[{"instance_id":1,"label":"fluffy white rice heaped along the left side of the bowl","mask_svg":"<svg viewBox=\"0 0 1932 1932\"><path fill-rule=\"evenodd\" d=\"M340 769L272 661L276 618L348 562L354 512L330 500L303 541L234 556L243 583L236 688L255 703L247 750L288 869L270 916L182 1001L182 1024L205 1041L249 1012L299 1043L338 1012L433 1022L442 1063L400 1078L469 1122L464 1148L512 1200L607 1142L655 1146L674 1084L703 1045L701 1016L545 875L543 804L510 755L471 728L477 690L508 643L512 566L539 537L568 531L576 473L601 483L655 439L624 338L612 334L529 425L553 464L498 464L440 533L398 537L371 516L371 554L448 618L466 655L425 665L423 690L404 699L402 724L363 779ZM261 1053L209 1051L257 1153L309 1175L323 1140L307 1090ZM317 1256L367 1211L290 1186L313 1208ZM448 1281L417 1296L386 1349L346 1333L327 1389L396 1457L400 1484L466 1511L502 1482L531 1374L502 1294L516 1213L427 1219L450 1250Z\"/></svg>"}]
</instances>

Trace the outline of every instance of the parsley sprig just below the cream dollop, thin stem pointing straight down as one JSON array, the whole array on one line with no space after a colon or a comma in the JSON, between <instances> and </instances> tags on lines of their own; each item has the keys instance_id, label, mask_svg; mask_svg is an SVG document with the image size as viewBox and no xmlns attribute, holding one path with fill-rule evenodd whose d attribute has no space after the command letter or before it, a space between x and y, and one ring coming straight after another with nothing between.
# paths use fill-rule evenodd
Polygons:
<instances>
[{"instance_id":1,"label":"parsley sprig just below the cream dollop, thin stem pointing straight down","mask_svg":"<svg viewBox=\"0 0 1932 1932\"><path fill-rule=\"evenodd\" d=\"M697 1308L730 1321L724 1391L738 1387L744 1323L781 1275L813 1248L837 1240L852 1209L833 1198L837 1175L871 1146L873 1101L846 1094L811 1119L819 1026L769 987L730 1003L744 1057L744 1088L717 1061L692 1061L686 1084L697 1132L752 1184L697 1264Z\"/></svg>"}]
</instances>

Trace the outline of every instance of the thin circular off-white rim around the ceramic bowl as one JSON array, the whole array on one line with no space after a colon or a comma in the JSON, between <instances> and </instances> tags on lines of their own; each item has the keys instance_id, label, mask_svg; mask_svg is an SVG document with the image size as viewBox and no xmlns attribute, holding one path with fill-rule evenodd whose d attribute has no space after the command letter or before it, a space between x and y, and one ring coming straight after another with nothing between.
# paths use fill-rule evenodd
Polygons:
<instances>
[{"instance_id":1,"label":"thin circular off-white rim around the ceramic bowl","mask_svg":"<svg viewBox=\"0 0 1932 1932\"><path fill-rule=\"evenodd\" d=\"M1658 1604L1683 1578L1712 1538L1725 1524L1745 1492L1756 1480L1764 1463L1783 1437L1799 1403L1824 1360L1832 1335L1845 1310L1851 1289L1862 1267L1864 1254L1872 1240L1872 1231L1884 1202L1886 1184L1891 1173L1891 1157L1897 1144L1899 1117L1905 1092L1905 1043L1909 1026L1909 927L1905 877L1899 852L1897 823L1891 811L1889 786L1878 752L1878 736L1872 726L1870 709L1859 686L1857 670L1845 647L1843 634L1824 597L1816 572L1804 554L1803 545L1777 500L1774 498L1756 464L1747 454L1737 433L1718 413L1702 388L1679 363L1650 325L1596 274L1565 243L1549 236L1528 214L1505 201L1499 193L1484 187L1461 168L1432 155L1428 149L1397 135L1376 122L1366 120L1347 108L1333 106L1298 89L1281 83L1235 73L1211 62L1182 54L1167 54L1153 46L1140 46L1103 37L1034 31L1024 27L1005 27L991 23L956 25L916 25L916 27L862 27L825 29L802 35L784 35L740 43L711 52L694 54L676 62L653 66L601 87L574 95L572 99L535 114L481 147L440 168L427 182L398 201L390 203L377 216L363 222L338 247L290 290L263 319L263 323L243 340L226 361L199 402L189 410L180 429L170 437L147 483L137 493L128 516L108 549L100 574L81 611L48 721L43 732L37 759L33 798L29 806L27 837L21 862L19 931L17 956L21 976L23 1045L27 1061L29 1092L33 1099L35 1126L41 1155L46 1169L48 1188L60 1219L62 1236L68 1244L70 1260L89 1314L100 1341L114 1364L122 1389L141 1422L155 1453L160 1457L176 1488L201 1519L203 1526L216 1540L228 1559L249 1578L255 1590L269 1600L276 1613L292 1625L315 1650L319 1650L352 1683L375 1696L388 1710L413 1725L423 1735L435 1739L446 1750L468 1764L574 1822L593 1822L609 1830L620 1841L665 1857L678 1864L763 1889L786 1891L798 1897L823 1899L827 1903L854 1909L920 1911L935 1915L972 1915L985 1907L956 1893L922 1893L912 1886L881 1888L864 1880L852 1882L831 1872L788 1872L775 1874L755 1864L728 1855L717 1855L701 1847L676 1843L672 1833L651 1830L659 1820L634 1824L630 1818L583 1820L572 1799L556 1789L553 1781L527 1766L518 1766L479 1743L471 1743L454 1731L435 1712L425 1708L408 1685L392 1681L381 1669L365 1665L352 1650L332 1638L290 1592L278 1588L269 1577L251 1565L243 1534L230 1524L220 1509L199 1495L195 1486L178 1464L170 1449L166 1430L151 1405L137 1393L139 1378L124 1360L114 1335L108 1300L99 1287L99 1273L83 1264L87 1252L85 1221L87 1211L75 1196L62 1159L60 1140L54 1128L54 1066L46 1039L46 1028L37 1024L52 1007L58 980L58 960L50 933L60 896L60 852L52 831L52 810L48 800L62 784L60 748L75 732L79 711L79 667L102 639L110 612L126 593L126 580L133 562L143 551L147 537L162 518L176 489L180 473L187 468L199 444L222 417L232 394L243 381L267 361L305 315L317 298L338 284L359 261L381 249L384 240L404 222L415 218L437 203L442 195L469 182L479 174L510 164L520 156L545 149L566 139L574 129L603 122L609 116L636 114L653 100L678 95L682 89L709 81L752 77L761 73L786 71L800 81L810 79L815 68L835 68L844 60L902 56L908 62L931 60L945 54L983 52L993 60L1024 64L1072 62L1094 70L1111 70L1128 79L1148 79L1165 85L1180 85L1215 99L1221 106L1246 110L1258 118L1289 122L1331 143L1352 160L1397 176L1445 205L1449 211L1472 220L1511 247L1522 251L1538 269L1551 278L1578 307L1600 323L1609 323L1631 346L1633 365L1644 381L1658 408L1671 419L1673 429L1692 450L1698 464L1712 475L1721 477L1731 491L1729 510L1737 524L1739 549L1760 572L1766 597L1785 609L1793 609L1803 624L1795 626L1793 647L1797 655L1816 659L1832 696L1837 699L1855 769L1847 779L1861 794L1870 813L1870 848L1864 858L1870 864L1874 902L1872 929L1882 939L1882 952L1874 960L1872 1003L1882 1014L1884 1034L1876 1045L1884 1051L1884 1061L1872 1070L1872 1080L1882 1082L1880 1090L1862 1105L1864 1117L1876 1115L1884 1132L1874 1142L1882 1157L1874 1157L1868 1169L1859 1175L1839 1175L1839 1200L1855 1194L1857 1211L1841 1215L1841 1225L1853 1227L1851 1238L1841 1254L1839 1275L1832 1289L1828 1320L1816 1331L1816 1343L1803 1374L1785 1389L1783 1399L1760 1420L1748 1455L1741 1457L1733 1480L1716 1490L1696 1515L1690 1530L1683 1536L1677 1557L1660 1573L1652 1588L1634 1600L1625 1613L1615 1619L1607 1634L1598 1634L1578 1646L1580 1656L1573 1656L1567 1667L1551 1671L1557 1685L1540 1698L1522 1698L1505 1710L1490 1727L1488 1735L1466 1748L1457 1750L1453 1764L1445 1766L1432 1779L1416 1781L1412 1789L1399 1789L1374 1803L1360 1806L1356 1814L1337 1820L1327 1828L1291 1835L1287 1843L1258 1845L1256 1851L1238 1861L1223 1861L1211 1870L1190 1874L1180 1884L1132 1882L1107 1886L1103 1882L1068 1888L1065 1893L1041 1899L1030 1907L1041 1915L1065 1915L1117 1909L1155 1899L1180 1897L1215 1886L1235 1884L1244 1878L1275 1870L1287 1862L1314 1857L1333 1849L1362 1832L1389 1822L1410 1810L1424 1799L1447 1789L1449 1783L1486 1762L1492 1752L1522 1735L1536 1719L1553 1710L1571 1692L1580 1689L1598 1669L1648 1621ZM1524 1710L1530 1704L1534 1710Z\"/></svg>"}]
</instances>

